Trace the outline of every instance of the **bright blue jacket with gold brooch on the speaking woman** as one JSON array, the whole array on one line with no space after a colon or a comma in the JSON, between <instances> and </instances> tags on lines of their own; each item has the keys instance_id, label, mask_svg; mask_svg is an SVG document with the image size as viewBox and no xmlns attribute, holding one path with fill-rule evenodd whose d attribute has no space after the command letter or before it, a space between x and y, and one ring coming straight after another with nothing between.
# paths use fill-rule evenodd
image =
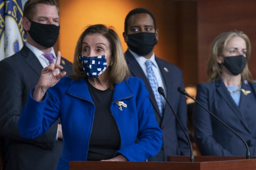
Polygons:
<instances>
[{"instance_id":1,"label":"bright blue jacket with gold brooch on the speaking woman","mask_svg":"<svg viewBox=\"0 0 256 170\"><path fill-rule=\"evenodd\" d=\"M144 161L157 154L162 145L162 132L158 128L148 92L138 78L115 84L110 110L120 133L120 150L129 161ZM60 117L63 150L57 169L68 169L69 161L87 160L89 139L93 126L95 105L85 79L73 81L62 78L47 90L46 99L35 101L32 91L19 119L19 131L24 138L44 134ZM123 101L123 111L116 104ZM135 143L136 137L140 139Z\"/></svg>"}]
</instances>

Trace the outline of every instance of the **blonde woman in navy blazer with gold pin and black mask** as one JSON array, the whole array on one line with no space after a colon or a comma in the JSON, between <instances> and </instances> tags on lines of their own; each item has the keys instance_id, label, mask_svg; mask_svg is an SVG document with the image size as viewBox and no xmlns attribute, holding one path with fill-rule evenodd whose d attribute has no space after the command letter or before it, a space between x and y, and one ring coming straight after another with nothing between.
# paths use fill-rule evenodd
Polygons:
<instances>
[{"instance_id":1,"label":"blonde woman in navy blazer with gold pin and black mask","mask_svg":"<svg viewBox=\"0 0 256 170\"><path fill-rule=\"evenodd\" d=\"M241 31L217 36L208 61L209 83L197 86L196 99L226 123L256 155L256 84L248 69L249 38ZM245 156L241 139L198 104L194 109L194 133L202 155Z\"/></svg>"}]
</instances>

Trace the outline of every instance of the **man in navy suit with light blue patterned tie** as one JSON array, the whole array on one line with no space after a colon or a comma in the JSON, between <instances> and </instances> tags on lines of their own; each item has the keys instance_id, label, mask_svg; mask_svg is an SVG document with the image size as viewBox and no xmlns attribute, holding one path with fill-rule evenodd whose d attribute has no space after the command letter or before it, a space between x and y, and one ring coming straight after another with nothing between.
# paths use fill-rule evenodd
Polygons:
<instances>
[{"instance_id":1,"label":"man in navy suit with light blue patterned tie","mask_svg":"<svg viewBox=\"0 0 256 170\"><path fill-rule=\"evenodd\" d=\"M128 45L126 61L132 76L144 81L156 120L163 132L162 148L149 161L167 161L169 155L190 153L188 141L170 107L157 94L157 87L163 87L168 101L188 134L186 99L177 91L177 87L184 87L182 71L179 67L155 57L153 48L157 44L158 33L155 18L150 11L136 8L126 16L123 33Z\"/></svg>"}]
</instances>

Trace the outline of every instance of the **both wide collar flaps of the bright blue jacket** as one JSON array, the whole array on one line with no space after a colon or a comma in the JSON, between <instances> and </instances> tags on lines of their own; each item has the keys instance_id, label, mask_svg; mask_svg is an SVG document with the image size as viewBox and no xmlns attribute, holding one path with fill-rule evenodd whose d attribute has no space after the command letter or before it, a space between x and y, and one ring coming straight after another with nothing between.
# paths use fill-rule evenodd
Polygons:
<instances>
[{"instance_id":1,"label":"both wide collar flaps of the bright blue jacket","mask_svg":"<svg viewBox=\"0 0 256 170\"><path fill-rule=\"evenodd\" d=\"M133 92L130 86L128 85L127 81L123 81L121 83L115 84L114 88L115 90L113 92L111 104L115 103L116 101L120 101L133 96ZM77 90L77 89L80 89L80 90ZM90 101L91 103L94 103L87 86L87 81L85 79L72 81L68 89L68 94L76 98L79 98L81 100L87 100L87 101Z\"/></svg>"}]
</instances>

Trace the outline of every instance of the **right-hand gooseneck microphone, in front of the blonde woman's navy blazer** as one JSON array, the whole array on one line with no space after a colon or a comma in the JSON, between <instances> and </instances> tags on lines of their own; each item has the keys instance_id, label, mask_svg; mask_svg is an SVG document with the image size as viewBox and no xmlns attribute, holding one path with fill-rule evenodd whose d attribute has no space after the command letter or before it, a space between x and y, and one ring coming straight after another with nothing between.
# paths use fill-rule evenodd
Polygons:
<instances>
[{"instance_id":1,"label":"right-hand gooseneck microphone, in front of the blonde woman's navy blazer","mask_svg":"<svg viewBox=\"0 0 256 170\"><path fill-rule=\"evenodd\" d=\"M250 159L251 156L250 156L250 152L249 152L249 148L248 148L248 145L247 143L245 142L245 140L240 136L238 135L235 131L233 131L231 128L229 128L228 125L226 125L222 120L220 120L217 116L215 116L212 112L210 112L207 108L205 108L201 103L199 103L196 99L194 99L193 97L191 97L187 92L186 90L184 90L182 87L178 87L177 89L181 94L183 95L186 95L187 97L191 98L192 100L194 100L197 104L199 104L205 111L207 111L208 113L210 113L215 119L217 119L219 122L221 122L224 126L226 126L226 128L228 128L231 132L233 132L237 137L239 137L243 142L244 142L244 145L246 147L246 159Z\"/></svg>"}]
</instances>

